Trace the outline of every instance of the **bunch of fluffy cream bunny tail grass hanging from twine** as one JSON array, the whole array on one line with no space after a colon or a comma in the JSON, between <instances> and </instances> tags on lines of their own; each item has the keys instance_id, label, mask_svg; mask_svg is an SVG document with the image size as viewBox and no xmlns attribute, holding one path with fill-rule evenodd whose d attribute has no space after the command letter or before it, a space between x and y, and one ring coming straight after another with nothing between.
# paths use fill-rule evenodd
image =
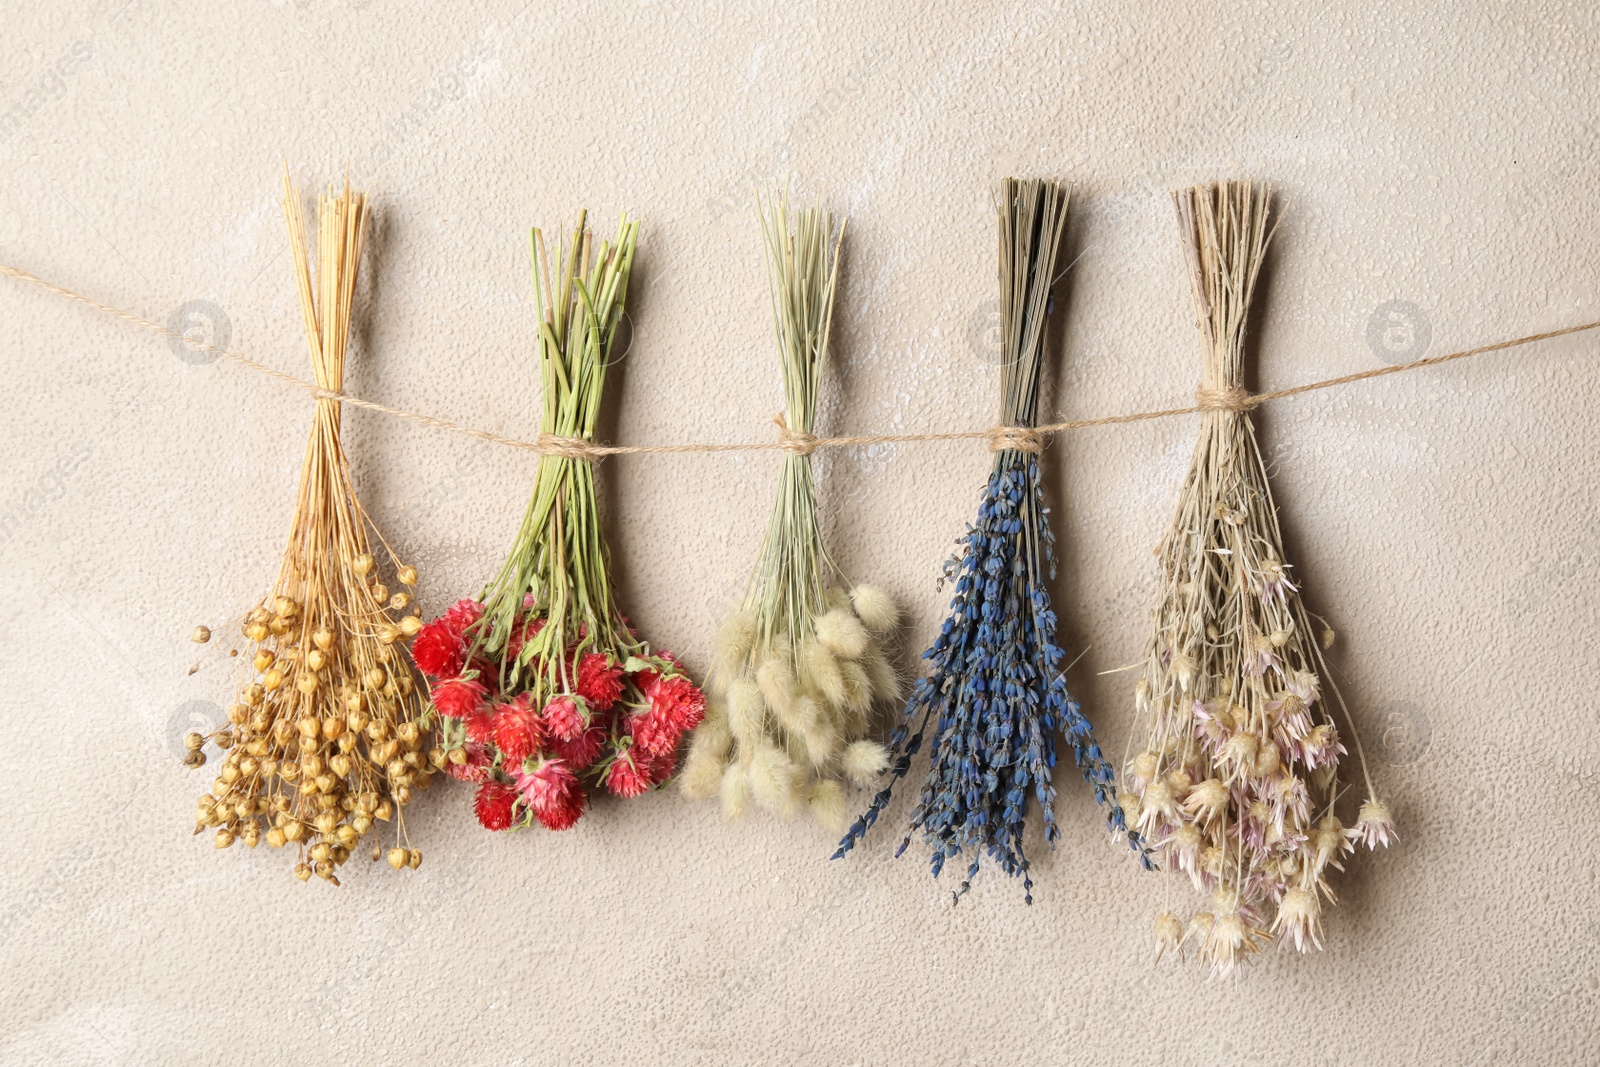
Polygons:
<instances>
[{"instance_id":1,"label":"bunch of fluffy cream bunny tail grass hanging from twine","mask_svg":"<svg viewBox=\"0 0 1600 1067\"><path fill-rule=\"evenodd\" d=\"M835 235L830 213L792 214L787 197L760 216L786 442L805 442L827 365L843 222ZM870 785L888 766L869 733L874 702L899 694L878 645L896 609L870 585L830 589L835 573L818 530L810 448L790 446L760 560L717 632L714 699L683 768L683 792L720 793L728 817L752 805L786 816L806 809L837 833L850 821L843 782Z\"/></svg>"}]
</instances>

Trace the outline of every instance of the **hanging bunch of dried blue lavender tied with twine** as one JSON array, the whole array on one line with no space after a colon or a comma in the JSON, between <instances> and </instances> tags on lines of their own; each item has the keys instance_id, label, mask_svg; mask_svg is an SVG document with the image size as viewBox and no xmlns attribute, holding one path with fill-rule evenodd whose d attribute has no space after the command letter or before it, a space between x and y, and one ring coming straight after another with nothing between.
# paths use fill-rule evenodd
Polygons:
<instances>
[{"instance_id":1,"label":"hanging bunch of dried blue lavender tied with twine","mask_svg":"<svg viewBox=\"0 0 1600 1067\"><path fill-rule=\"evenodd\" d=\"M1013 429L994 438L994 470L978 522L944 566L944 581L955 585L950 616L923 653L928 675L917 681L904 721L890 734L890 782L850 827L835 859L883 813L894 781L910 769L931 723L928 777L896 854L918 830L931 849L934 877L946 861L965 854L966 870L954 894L960 899L987 853L1003 872L1021 875L1032 904L1024 825L1032 795L1045 841L1054 846L1059 837L1051 784L1056 731L1072 745L1102 805L1114 795L1114 776L1088 720L1067 694L1056 614L1045 592L1056 560L1038 469L1040 442L1027 432L1038 411L1050 286L1067 222L1067 192L1054 182L1008 179L997 208L1005 357L1000 416ZM1112 832L1139 848L1122 811L1114 803L1107 811Z\"/></svg>"}]
</instances>

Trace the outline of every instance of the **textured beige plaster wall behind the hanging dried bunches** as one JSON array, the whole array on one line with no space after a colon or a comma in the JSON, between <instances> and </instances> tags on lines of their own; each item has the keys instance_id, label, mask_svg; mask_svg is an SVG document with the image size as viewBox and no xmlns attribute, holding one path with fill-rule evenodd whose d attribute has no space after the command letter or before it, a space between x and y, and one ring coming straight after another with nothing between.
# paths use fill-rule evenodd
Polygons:
<instances>
[{"instance_id":1,"label":"textured beige plaster wall behind the hanging dried bunches","mask_svg":"<svg viewBox=\"0 0 1600 1067\"><path fill-rule=\"evenodd\" d=\"M1595 317L1587 3L706 6L3 0L0 259L160 320L202 301L232 347L304 373L278 168L314 186L349 160L378 205L352 390L526 435L525 227L627 208L619 442L773 432L749 190L790 171L851 216L827 430L987 424L1008 173L1077 182L1064 418L1187 403L1166 194L1213 176L1291 202L1262 386L1374 366L1390 301L1432 352ZM808 825L730 827L675 795L490 837L462 787L432 790L422 870L352 865L341 891L214 853L189 837L210 779L178 752L227 672L186 677L186 638L266 589L307 403L3 278L0 320L3 1064L1595 1062L1595 338L1262 416L1403 843L1341 881L1326 952L1208 984L1150 968L1165 883L1102 840L1075 779L1032 909L986 875L952 910L890 859L893 827L829 864ZM474 592L533 458L346 426L426 606ZM1141 651L1194 429L1046 454L1064 643L1088 648L1072 681L1114 752L1131 680L1101 672ZM909 609L907 664L986 467L966 445L821 462L834 552ZM626 601L696 669L773 470L602 467Z\"/></svg>"}]
</instances>

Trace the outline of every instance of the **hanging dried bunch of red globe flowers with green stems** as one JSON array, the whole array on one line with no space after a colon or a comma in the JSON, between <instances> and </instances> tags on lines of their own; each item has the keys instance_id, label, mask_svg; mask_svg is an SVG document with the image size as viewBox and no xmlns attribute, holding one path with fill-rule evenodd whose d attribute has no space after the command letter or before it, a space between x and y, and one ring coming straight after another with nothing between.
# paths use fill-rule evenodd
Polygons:
<instances>
[{"instance_id":1,"label":"hanging dried bunch of red globe flowers with green stems","mask_svg":"<svg viewBox=\"0 0 1600 1067\"><path fill-rule=\"evenodd\" d=\"M490 830L565 830L589 792L638 797L672 776L706 697L670 653L651 653L616 603L595 504L592 442L638 224L595 242L579 214L552 261L531 234L542 435L533 499L499 576L422 627L413 656L434 678L453 776L475 782Z\"/></svg>"}]
</instances>

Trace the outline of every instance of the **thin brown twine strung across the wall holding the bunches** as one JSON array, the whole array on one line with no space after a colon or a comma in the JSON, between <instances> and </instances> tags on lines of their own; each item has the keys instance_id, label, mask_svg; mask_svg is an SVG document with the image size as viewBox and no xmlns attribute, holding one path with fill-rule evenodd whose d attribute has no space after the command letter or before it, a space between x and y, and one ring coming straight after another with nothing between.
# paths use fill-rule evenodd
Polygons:
<instances>
[{"instance_id":1,"label":"thin brown twine strung across the wall holding the bunches","mask_svg":"<svg viewBox=\"0 0 1600 1067\"><path fill-rule=\"evenodd\" d=\"M1600 328L1600 320L1579 323L1576 326L1562 326L1560 330L1546 330L1544 333L1531 333L1522 338L1512 338L1510 341L1496 341L1493 344L1480 344L1472 349L1461 349L1459 352L1445 352L1442 355L1429 355L1421 360L1411 360L1410 363L1394 363L1390 366L1378 366L1366 371L1355 371L1354 374L1341 374L1338 378L1325 378L1323 381L1307 382L1304 386L1291 386L1288 389L1274 389L1269 392L1246 392L1245 389L1234 386L1222 390L1198 389L1195 392L1195 403L1189 408L1162 408L1157 411L1134 411L1131 414L1110 414L1099 419L1074 419L1070 422L1050 422L1045 426L1027 427L1027 426L992 426L986 430L955 430L947 434L864 434L859 437L816 437L814 434L803 434L798 430L790 430L782 416L774 418L778 424L778 440L773 442L733 442L733 443L686 443L686 445L600 445L582 437L560 437L557 434L539 434L534 440L522 440L517 437L506 437L504 434L494 434L493 430L482 430L474 426L466 426L462 422L453 422L451 419L440 419L432 414L424 414L421 411L406 411L405 408L392 408L386 403L378 403L376 400L363 400L362 397L352 397L344 390L323 389L315 382L309 382L294 374L288 374L266 363L258 363L250 357L238 355L237 352L227 352L205 341L190 341L184 334L168 330L158 323L150 322L134 315L130 310L120 307L112 307L110 304L102 304L90 296L83 296L74 290L69 290L53 282L46 282L38 275L22 270L21 267L10 267L0 264L0 274L26 282L32 286L45 290L46 293L54 293L56 296L64 296L69 301L83 304L85 307L93 307L94 310L104 312L114 318L120 318L130 325L139 326L150 333L170 338L173 341L181 341L192 349L202 349L205 352L213 352L224 360L230 360L246 370L266 374L285 386L293 386L309 392L317 400L336 400L339 403L347 403L352 408L365 408L366 411L378 411L381 414L394 416L397 419L405 419L418 426L426 426L435 430L448 430L451 434L461 434L464 437L474 437L480 442L490 442L491 445L504 445L507 448L520 448L523 451L538 453L541 456L563 456L570 459L600 459L603 456L642 456L642 454L685 454L685 453L760 453L760 451L786 451L795 456L810 456L818 448L848 448L851 445L899 445L912 442L984 442L989 451L1016 450L1024 453L1037 453L1045 446L1045 440L1064 434L1067 430L1082 430L1093 426L1120 426L1125 422L1146 422L1149 419L1170 419L1179 414L1203 414L1208 411L1254 411L1269 400L1285 400L1288 397L1299 397L1302 394L1317 392L1320 389L1333 389L1336 386L1349 386L1352 382L1362 382L1373 378L1384 378L1386 374L1400 374L1403 371L1416 371L1424 366L1438 366L1442 363L1451 363L1454 360L1466 360L1474 355L1485 355L1488 352L1504 352L1506 349L1517 349L1525 344L1538 344L1541 341L1554 341L1555 338L1565 338L1574 333L1584 333L1589 330Z\"/></svg>"}]
</instances>

